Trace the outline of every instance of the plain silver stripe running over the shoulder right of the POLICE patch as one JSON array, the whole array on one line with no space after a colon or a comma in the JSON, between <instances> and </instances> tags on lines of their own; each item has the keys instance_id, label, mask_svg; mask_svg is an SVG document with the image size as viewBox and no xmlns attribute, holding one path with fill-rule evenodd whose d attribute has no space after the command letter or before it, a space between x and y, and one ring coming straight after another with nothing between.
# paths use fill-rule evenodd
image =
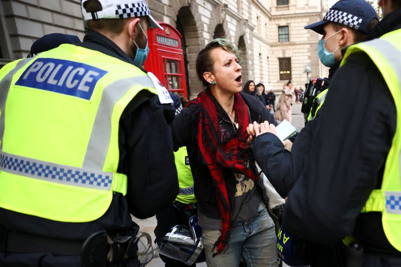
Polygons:
<instances>
[{"instance_id":1,"label":"plain silver stripe running over the shoulder right of the POLICE patch","mask_svg":"<svg viewBox=\"0 0 401 267\"><path fill-rule=\"evenodd\" d=\"M113 106L135 84L140 84L143 88L154 87L149 76L143 75L116 80L103 89L83 167L103 169L111 137L111 114Z\"/></svg>"}]
</instances>

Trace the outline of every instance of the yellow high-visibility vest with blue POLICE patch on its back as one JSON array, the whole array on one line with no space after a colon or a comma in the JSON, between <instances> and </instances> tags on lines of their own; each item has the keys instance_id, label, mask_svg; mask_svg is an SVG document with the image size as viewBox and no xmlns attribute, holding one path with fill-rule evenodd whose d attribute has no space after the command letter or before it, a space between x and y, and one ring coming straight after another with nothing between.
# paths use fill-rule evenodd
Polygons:
<instances>
[{"instance_id":1,"label":"yellow high-visibility vest with blue POLICE patch on its back","mask_svg":"<svg viewBox=\"0 0 401 267\"><path fill-rule=\"evenodd\" d=\"M0 70L0 207L64 222L101 217L115 192L127 104L155 83L138 67L63 44Z\"/></svg>"}]
</instances>

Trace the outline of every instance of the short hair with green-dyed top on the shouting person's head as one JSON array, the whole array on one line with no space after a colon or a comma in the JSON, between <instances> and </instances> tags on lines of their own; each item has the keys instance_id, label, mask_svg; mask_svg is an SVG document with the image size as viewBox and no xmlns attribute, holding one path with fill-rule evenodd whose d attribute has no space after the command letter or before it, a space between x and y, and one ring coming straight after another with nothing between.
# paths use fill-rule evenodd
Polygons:
<instances>
[{"instance_id":1,"label":"short hair with green-dyed top on the shouting person's head","mask_svg":"<svg viewBox=\"0 0 401 267\"><path fill-rule=\"evenodd\" d=\"M229 39L216 38L208 43L205 48L199 51L196 57L196 74L206 87L209 86L209 82L204 78L204 73L213 72L214 61L211 51L217 47L221 47L228 52L234 53L235 56L241 60L241 51Z\"/></svg>"}]
</instances>

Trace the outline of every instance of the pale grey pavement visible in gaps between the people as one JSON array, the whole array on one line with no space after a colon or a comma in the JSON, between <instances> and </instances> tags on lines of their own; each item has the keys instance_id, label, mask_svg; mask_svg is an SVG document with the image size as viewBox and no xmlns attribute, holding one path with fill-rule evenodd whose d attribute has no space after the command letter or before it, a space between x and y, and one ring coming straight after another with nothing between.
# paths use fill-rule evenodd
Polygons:
<instances>
[{"instance_id":1,"label":"pale grey pavement visible in gaps between the people","mask_svg":"<svg viewBox=\"0 0 401 267\"><path fill-rule=\"evenodd\" d=\"M294 103L293 104L293 111L292 111L292 124L300 131L304 127L304 116L303 113L301 112L301 104L299 103ZM139 224L140 226L140 231L144 231L149 233L152 236L152 242L154 242L154 227L157 224L156 217L150 217L147 219L138 219L135 217L132 217L133 221ZM146 267L163 267L164 263L163 261L159 258L158 254L155 253L153 256L153 259L146 265ZM198 263L196 264L196 267L206 267L206 263ZM284 267L289 267L287 264L283 264ZM222 266L223 267L223 266Z\"/></svg>"}]
</instances>

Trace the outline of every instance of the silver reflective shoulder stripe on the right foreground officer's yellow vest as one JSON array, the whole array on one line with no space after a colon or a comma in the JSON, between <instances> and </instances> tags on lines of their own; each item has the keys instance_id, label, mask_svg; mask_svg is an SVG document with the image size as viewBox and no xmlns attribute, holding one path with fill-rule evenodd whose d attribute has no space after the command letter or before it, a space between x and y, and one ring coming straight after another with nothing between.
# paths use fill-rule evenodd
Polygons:
<instances>
[{"instance_id":1,"label":"silver reflective shoulder stripe on the right foreground officer's yellow vest","mask_svg":"<svg viewBox=\"0 0 401 267\"><path fill-rule=\"evenodd\" d=\"M394 69L394 72L397 75L398 85L401 89L401 51L392 43L383 39L374 39L365 42L365 44L377 49L385 57L385 59L387 59L388 63L391 65L392 69ZM398 161L399 165L401 166L401 153L398 155ZM399 178L401 182L401 172Z\"/></svg>"}]
</instances>

